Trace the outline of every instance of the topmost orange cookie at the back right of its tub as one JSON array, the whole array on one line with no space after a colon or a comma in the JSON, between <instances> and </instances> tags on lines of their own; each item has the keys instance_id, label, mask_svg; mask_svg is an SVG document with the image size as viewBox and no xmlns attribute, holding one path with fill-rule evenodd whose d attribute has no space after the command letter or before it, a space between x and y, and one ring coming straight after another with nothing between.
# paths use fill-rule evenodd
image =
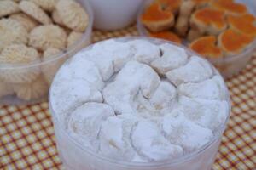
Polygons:
<instances>
[{"instance_id":1,"label":"topmost orange cookie at the back right of its tub","mask_svg":"<svg viewBox=\"0 0 256 170\"><path fill-rule=\"evenodd\" d=\"M231 0L215 0L211 3L212 8L222 10L227 14L246 14L247 6Z\"/></svg>"}]
</instances>

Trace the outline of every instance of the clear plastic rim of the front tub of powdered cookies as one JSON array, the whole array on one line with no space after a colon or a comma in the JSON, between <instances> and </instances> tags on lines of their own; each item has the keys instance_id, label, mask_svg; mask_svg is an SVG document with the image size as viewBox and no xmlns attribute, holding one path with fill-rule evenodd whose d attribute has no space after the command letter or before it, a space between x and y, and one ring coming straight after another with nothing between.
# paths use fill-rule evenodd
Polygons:
<instances>
[{"instance_id":1,"label":"clear plastic rim of the front tub of powdered cookies","mask_svg":"<svg viewBox=\"0 0 256 170\"><path fill-rule=\"evenodd\" d=\"M118 38L111 38L111 40L117 40L117 41L122 41L122 42L127 42L129 40L136 40L136 39L143 39L143 40L147 40L147 41L153 42L153 43L156 43L156 42L158 42L158 43L165 43L166 42L166 43L169 43L169 44L172 44L172 45L176 45L177 47L185 49L186 52L188 54L190 54L191 56L192 55L197 55L197 56L201 57L201 55L196 54L194 51L192 51L189 48L186 48L183 45L177 44L175 42L170 42L170 41L158 39L158 38L152 38L152 37L118 37ZM108 41L108 40L103 40L101 42L105 42L105 41ZM97 42L97 43L101 43L101 42ZM90 46L88 46L87 48L84 48L81 51L87 51L93 45L94 44L91 44ZM202 58L202 59L204 59L204 58ZM207 60L207 59L205 59L205 60ZM66 61L66 62L68 62L68 61ZM212 65L211 63L209 63L209 64ZM218 70L215 69L215 67L213 65L212 65L212 68L214 69L214 71L216 71L216 73L220 77L222 77L219 74ZM223 80L224 80L224 78L223 78ZM53 82L53 84L54 83L55 83L55 81ZM117 160L114 160L112 158L109 158L108 156L102 156L102 155L94 152L93 150L84 148L82 146L82 144L80 144L69 133L67 133L65 128L63 128L63 126L61 126L61 122L58 120L58 117L56 116L56 111L54 110L53 106L51 105L51 103L52 103L52 100L51 100L52 87L53 87L53 85L49 89L49 111L51 112L51 115L53 117L54 126L58 126L59 129L61 130L61 133L64 133L67 136L67 138L70 139L73 142L73 144L76 145L76 147L78 147L80 150L83 150L83 152L89 154L90 156L94 156L95 158L100 159L102 161L108 161L110 163L113 163L113 164L116 164L116 165L119 165L119 166L123 166L123 167L127 167L127 166L128 167L162 167L162 166L166 166L166 165L175 165L175 164L181 163L183 161L187 161L187 160L193 158L193 156L201 154L204 150L207 150L207 148L209 148L212 144L214 144L214 142L216 142L222 136L222 134L224 133L224 129L225 129L225 127L227 125L227 122L229 121L229 118L230 118L230 111L231 111L230 94L229 94L229 90L228 90L227 86L225 86L225 88L226 88L225 91L227 93L226 101L227 101L227 103L229 105L229 110L228 110L228 113L227 113L227 117L225 118L225 121L218 127L218 129L216 130L216 133L214 133L213 139L210 142L208 142L207 144L203 145L199 150L195 150L195 151L193 151L193 152L191 152L189 154L186 154L184 156L180 156L180 157L177 157L177 158L173 158L172 160L165 160L165 161L154 161L154 162L117 161Z\"/></svg>"}]
</instances>

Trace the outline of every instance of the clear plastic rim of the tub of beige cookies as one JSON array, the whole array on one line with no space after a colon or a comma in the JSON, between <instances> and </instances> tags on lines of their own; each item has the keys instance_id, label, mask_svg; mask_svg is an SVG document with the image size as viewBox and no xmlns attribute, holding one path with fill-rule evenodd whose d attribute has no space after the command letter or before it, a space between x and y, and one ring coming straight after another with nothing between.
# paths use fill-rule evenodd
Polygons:
<instances>
[{"instance_id":1,"label":"clear plastic rim of the tub of beige cookies","mask_svg":"<svg viewBox=\"0 0 256 170\"><path fill-rule=\"evenodd\" d=\"M78 49L79 45L84 42L84 39L90 38L90 34L91 34L92 26L93 26L93 20L94 20L94 14L93 14L90 2L88 0L82 0L82 2L84 4L81 4L81 0L78 0L78 1L79 1L79 4L86 10L86 13L89 16L88 26L86 27L86 30L84 31L83 36L80 38L79 41L74 42L73 45L71 45L69 48L65 48L65 50L63 51L64 53L52 55L53 57L51 59L46 59L44 61L41 61L38 59L38 60L33 61L30 64L3 64L3 63L0 63L0 71L7 70L7 69L8 70L28 69L28 68L37 67L40 65L46 65L51 62L54 62L57 59L64 58L64 57L68 56L69 54L75 53L76 50Z\"/></svg>"}]
</instances>

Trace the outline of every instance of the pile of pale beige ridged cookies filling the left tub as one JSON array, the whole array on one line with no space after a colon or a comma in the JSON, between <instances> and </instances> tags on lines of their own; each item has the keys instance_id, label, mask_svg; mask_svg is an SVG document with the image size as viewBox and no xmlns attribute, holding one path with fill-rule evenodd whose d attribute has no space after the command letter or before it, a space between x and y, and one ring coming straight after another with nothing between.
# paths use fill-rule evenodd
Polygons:
<instances>
[{"instance_id":1,"label":"pile of pale beige ridged cookies filling the left tub","mask_svg":"<svg viewBox=\"0 0 256 170\"><path fill-rule=\"evenodd\" d=\"M89 15L75 0L0 1L0 99L39 99L76 46ZM44 62L44 63L42 63Z\"/></svg>"}]
</instances>

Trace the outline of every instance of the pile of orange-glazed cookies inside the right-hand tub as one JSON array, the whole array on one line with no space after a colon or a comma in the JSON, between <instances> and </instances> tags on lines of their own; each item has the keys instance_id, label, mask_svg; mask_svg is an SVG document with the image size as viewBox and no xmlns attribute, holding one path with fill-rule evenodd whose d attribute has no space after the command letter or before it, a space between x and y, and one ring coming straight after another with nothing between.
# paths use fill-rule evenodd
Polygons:
<instances>
[{"instance_id":1,"label":"pile of orange-glazed cookies inside the right-hand tub","mask_svg":"<svg viewBox=\"0 0 256 170\"><path fill-rule=\"evenodd\" d=\"M189 43L207 58L241 54L256 37L256 18L235 0L154 0L140 18L151 37Z\"/></svg>"}]
</instances>

